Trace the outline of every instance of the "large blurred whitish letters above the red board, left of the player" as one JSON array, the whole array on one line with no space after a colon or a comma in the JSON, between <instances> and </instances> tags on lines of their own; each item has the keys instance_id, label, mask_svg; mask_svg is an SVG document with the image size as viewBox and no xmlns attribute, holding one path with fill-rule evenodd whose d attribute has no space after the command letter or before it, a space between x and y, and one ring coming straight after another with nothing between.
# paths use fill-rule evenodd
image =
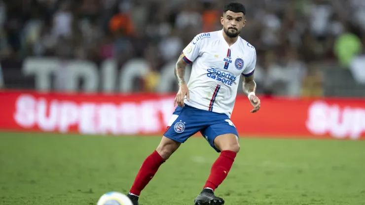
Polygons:
<instances>
[{"instance_id":1,"label":"large blurred whitish letters above the red board, left of the player","mask_svg":"<svg viewBox=\"0 0 365 205\"><path fill-rule=\"evenodd\" d=\"M175 82L174 66L176 62L167 63L161 71L161 80L157 92L176 92L170 86ZM148 75L149 65L145 59L131 59L122 68L117 68L113 59L101 63L100 69L91 61L70 60L60 62L57 58L27 58L23 62L23 73L34 76L36 89L49 91L52 89L52 75L61 73L62 80L57 83L67 82L61 87L68 91L81 90L83 92L102 91L131 92L136 78ZM190 77L190 68L185 72L185 79ZM79 82L82 81L82 87Z\"/></svg>"}]
</instances>

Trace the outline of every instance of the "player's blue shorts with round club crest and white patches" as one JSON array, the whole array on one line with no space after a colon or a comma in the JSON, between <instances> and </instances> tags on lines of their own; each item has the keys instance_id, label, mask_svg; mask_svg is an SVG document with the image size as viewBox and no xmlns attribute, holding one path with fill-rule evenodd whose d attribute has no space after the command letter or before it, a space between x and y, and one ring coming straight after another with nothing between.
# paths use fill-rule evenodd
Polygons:
<instances>
[{"instance_id":1,"label":"player's blue shorts with round club crest and white patches","mask_svg":"<svg viewBox=\"0 0 365 205\"><path fill-rule=\"evenodd\" d=\"M220 152L214 146L217 136L234 134L238 137L236 127L226 114L201 110L186 104L175 109L164 136L184 143L197 132L200 132L217 152Z\"/></svg>"}]
</instances>

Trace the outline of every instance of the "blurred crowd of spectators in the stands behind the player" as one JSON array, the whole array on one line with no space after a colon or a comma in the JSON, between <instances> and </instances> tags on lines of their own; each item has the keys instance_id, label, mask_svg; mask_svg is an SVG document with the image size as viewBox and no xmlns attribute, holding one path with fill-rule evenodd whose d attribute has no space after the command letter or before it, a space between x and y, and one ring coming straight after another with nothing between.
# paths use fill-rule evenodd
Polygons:
<instances>
[{"instance_id":1,"label":"blurred crowd of spectators in the stands behind the player","mask_svg":"<svg viewBox=\"0 0 365 205\"><path fill-rule=\"evenodd\" d=\"M241 36L257 52L258 92L321 95L320 65L348 68L364 53L365 0L237 0ZM0 60L28 56L159 69L202 32L220 30L226 0L0 0ZM173 68L172 68L173 69ZM153 91L153 88L148 88Z\"/></svg>"}]
</instances>

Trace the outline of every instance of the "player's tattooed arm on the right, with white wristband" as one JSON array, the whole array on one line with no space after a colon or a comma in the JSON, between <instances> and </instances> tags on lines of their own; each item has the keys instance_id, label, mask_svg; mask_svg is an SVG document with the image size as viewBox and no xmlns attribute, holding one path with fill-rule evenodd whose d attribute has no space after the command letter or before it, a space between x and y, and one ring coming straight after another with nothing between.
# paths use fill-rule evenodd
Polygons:
<instances>
[{"instance_id":1,"label":"player's tattooed arm on the right, with white wristband","mask_svg":"<svg viewBox=\"0 0 365 205\"><path fill-rule=\"evenodd\" d=\"M256 83L254 80L254 74L249 77L243 76L242 87L243 92L249 97L252 106L254 106L254 109L251 110L251 112L257 112L260 109L261 102L260 99L255 96Z\"/></svg>"}]
</instances>

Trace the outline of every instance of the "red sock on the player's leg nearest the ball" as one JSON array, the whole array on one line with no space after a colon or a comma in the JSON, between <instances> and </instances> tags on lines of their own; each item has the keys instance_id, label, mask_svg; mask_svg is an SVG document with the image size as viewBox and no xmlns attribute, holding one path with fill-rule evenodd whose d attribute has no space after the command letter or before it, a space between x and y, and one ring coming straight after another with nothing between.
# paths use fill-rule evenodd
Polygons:
<instances>
[{"instance_id":1,"label":"red sock on the player's leg nearest the ball","mask_svg":"<svg viewBox=\"0 0 365 205\"><path fill-rule=\"evenodd\" d=\"M148 182L152 179L158 168L165 162L165 160L155 150L143 162L140 171L134 180L133 186L129 191L131 194L140 196L141 191L146 187Z\"/></svg>"}]
</instances>

